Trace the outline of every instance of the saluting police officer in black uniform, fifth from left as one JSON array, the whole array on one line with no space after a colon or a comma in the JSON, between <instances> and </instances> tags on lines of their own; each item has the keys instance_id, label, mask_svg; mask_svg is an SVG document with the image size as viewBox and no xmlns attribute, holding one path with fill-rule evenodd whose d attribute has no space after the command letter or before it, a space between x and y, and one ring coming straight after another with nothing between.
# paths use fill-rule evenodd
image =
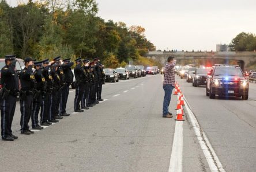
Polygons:
<instances>
[{"instance_id":1,"label":"saluting police officer in black uniform, fifth from left","mask_svg":"<svg viewBox=\"0 0 256 172\"><path fill-rule=\"evenodd\" d=\"M54 115L54 118L55 119L62 119L63 117L61 116L61 96L62 96L62 88L66 85L66 82L65 82L65 75L64 75L64 72L61 68L61 57L58 56L58 57L55 57L53 59L53 61L57 64L58 66L58 69L56 71L57 73L57 77L59 78L59 89L57 89L57 93L56 93L56 105L55 105L55 115Z\"/></svg>"}]
</instances>

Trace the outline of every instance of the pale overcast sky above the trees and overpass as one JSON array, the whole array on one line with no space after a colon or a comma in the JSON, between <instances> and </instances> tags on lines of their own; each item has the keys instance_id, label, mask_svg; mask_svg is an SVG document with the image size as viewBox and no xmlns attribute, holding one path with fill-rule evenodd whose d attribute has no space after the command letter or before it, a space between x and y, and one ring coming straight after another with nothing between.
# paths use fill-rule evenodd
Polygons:
<instances>
[{"instance_id":1,"label":"pale overcast sky above the trees and overpass","mask_svg":"<svg viewBox=\"0 0 256 172\"><path fill-rule=\"evenodd\" d=\"M142 26L146 38L161 50L216 50L216 44L229 44L240 32L256 34L255 0L96 2L101 18ZM17 0L7 3L16 6Z\"/></svg>"}]
</instances>

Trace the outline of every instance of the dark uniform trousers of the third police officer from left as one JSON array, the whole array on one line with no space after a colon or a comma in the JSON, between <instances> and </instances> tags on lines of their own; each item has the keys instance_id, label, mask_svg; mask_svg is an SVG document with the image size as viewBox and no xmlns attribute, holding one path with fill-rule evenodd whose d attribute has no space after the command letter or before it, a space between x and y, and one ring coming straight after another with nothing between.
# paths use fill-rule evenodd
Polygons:
<instances>
[{"instance_id":1,"label":"dark uniform trousers of the third police officer from left","mask_svg":"<svg viewBox=\"0 0 256 172\"><path fill-rule=\"evenodd\" d=\"M38 114L40 107L42 106L42 95L37 97L37 99L33 100L33 108L32 108L32 115L31 115L31 122L32 127L36 127L38 125Z\"/></svg>"}]
</instances>

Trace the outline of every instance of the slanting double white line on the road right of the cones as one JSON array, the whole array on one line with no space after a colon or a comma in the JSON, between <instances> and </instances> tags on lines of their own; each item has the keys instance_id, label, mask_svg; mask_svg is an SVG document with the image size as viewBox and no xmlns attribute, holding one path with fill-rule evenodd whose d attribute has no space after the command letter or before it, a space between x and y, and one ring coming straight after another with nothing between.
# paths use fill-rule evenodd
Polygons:
<instances>
[{"instance_id":1,"label":"slanting double white line on the road right of the cones","mask_svg":"<svg viewBox=\"0 0 256 172\"><path fill-rule=\"evenodd\" d=\"M197 136L198 142L202 148L202 151L204 152L205 158L208 162L208 165L210 167L210 171L225 171L223 169L223 166L221 165L220 159L217 157L215 151L213 150L212 145L210 144L208 138L205 135L205 132L201 130L201 127L199 126L197 118L195 118L195 115L191 111L191 107L189 105L189 102L184 96L185 100L185 108L189 114L190 122L194 128L195 135Z\"/></svg>"}]
</instances>

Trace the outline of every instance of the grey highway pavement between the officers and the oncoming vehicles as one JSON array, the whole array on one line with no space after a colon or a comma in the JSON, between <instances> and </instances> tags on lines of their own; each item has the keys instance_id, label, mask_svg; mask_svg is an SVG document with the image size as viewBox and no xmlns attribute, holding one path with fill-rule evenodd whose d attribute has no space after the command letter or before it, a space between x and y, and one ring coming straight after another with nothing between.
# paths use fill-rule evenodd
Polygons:
<instances>
[{"instance_id":1,"label":"grey highway pavement between the officers and the oncoming vehicles","mask_svg":"<svg viewBox=\"0 0 256 172\"><path fill-rule=\"evenodd\" d=\"M13 131L19 138L0 141L1 171L171 171L173 159L180 171L213 171L208 160L216 163L216 157L217 166L223 166L219 171L255 171L256 84L250 83L247 101L212 100L205 96L205 87L194 88L177 78L187 102L185 122L176 122L162 118L162 80L163 75L156 75L106 83L105 101L82 113L73 113L71 89L67 105L71 115L32 135L19 132L17 103ZM172 96L174 114L175 107ZM191 114L216 157L206 157ZM182 124L180 135L176 123ZM182 144L176 142L177 135ZM179 156L173 157L174 153Z\"/></svg>"}]
</instances>

